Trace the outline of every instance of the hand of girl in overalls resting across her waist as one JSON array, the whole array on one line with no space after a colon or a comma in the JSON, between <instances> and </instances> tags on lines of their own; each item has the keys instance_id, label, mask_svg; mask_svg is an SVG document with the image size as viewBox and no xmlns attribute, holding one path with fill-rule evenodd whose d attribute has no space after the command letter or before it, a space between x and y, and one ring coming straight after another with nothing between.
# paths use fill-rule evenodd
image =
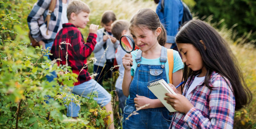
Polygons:
<instances>
[{"instance_id":1,"label":"hand of girl in overalls resting across her waist","mask_svg":"<svg viewBox=\"0 0 256 129\"><path fill-rule=\"evenodd\" d=\"M136 109L138 109L139 107L149 104L150 100L151 99L149 99L148 97L136 95L136 97L134 98L134 106L136 107ZM143 107L142 109L149 109L149 106Z\"/></svg>"}]
</instances>

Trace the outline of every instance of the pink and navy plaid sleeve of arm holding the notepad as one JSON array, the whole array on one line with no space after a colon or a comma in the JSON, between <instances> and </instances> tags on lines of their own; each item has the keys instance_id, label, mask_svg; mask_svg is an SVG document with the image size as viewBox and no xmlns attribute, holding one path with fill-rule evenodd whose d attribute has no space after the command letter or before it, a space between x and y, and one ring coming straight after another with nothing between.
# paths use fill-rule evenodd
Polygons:
<instances>
[{"instance_id":1,"label":"pink and navy plaid sleeve of arm holding the notepad","mask_svg":"<svg viewBox=\"0 0 256 129\"><path fill-rule=\"evenodd\" d=\"M203 116L196 108L187 112L184 120L190 128L233 128L235 97L223 78L213 82L209 95L210 116Z\"/></svg>"}]
</instances>

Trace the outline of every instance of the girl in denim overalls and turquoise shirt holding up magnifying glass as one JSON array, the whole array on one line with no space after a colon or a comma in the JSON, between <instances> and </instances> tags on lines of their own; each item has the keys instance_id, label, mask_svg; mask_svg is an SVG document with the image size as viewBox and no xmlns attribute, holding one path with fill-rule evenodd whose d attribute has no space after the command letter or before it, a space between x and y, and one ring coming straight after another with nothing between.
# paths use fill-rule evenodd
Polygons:
<instances>
[{"instance_id":1,"label":"girl in denim overalls and turquoise shirt holding up magnifying glass","mask_svg":"<svg viewBox=\"0 0 256 129\"><path fill-rule=\"evenodd\" d=\"M166 33L157 14L151 9L140 9L130 20L132 38L140 50L127 53L122 58L124 78L122 89L126 99L123 128L168 128L172 115L159 99L147 88L147 83L164 79L177 86L182 81L183 62L179 53L173 50L172 79L169 79L169 66ZM172 62L172 61L169 61ZM131 66L132 65L132 66ZM181 87L178 90L181 91ZM149 104L129 116L137 108ZM126 118L129 116L129 119Z\"/></svg>"}]
</instances>

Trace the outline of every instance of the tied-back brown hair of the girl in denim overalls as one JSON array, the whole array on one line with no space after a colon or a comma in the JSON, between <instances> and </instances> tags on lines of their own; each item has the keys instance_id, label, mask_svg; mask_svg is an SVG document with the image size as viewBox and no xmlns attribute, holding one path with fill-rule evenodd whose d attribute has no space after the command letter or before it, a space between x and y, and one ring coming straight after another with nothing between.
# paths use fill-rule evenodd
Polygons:
<instances>
[{"instance_id":1,"label":"tied-back brown hair of the girl in denim overalls","mask_svg":"<svg viewBox=\"0 0 256 129\"><path fill-rule=\"evenodd\" d=\"M132 30L133 27L147 27L153 32L161 27L162 31L157 37L158 43L163 46L166 43L166 31L161 24L157 14L148 8L140 9L130 20L129 29Z\"/></svg>"}]
</instances>

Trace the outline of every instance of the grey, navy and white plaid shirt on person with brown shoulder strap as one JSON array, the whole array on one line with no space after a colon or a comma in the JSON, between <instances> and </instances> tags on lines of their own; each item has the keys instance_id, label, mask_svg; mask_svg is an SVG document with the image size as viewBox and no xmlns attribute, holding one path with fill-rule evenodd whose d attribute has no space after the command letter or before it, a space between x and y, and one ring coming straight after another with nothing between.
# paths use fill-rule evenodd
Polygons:
<instances>
[{"instance_id":1,"label":"grey, navy and white plaid shirt on person with brown shoulder strap","mask_svg":"<svg viewBox=\"0 0 256 129\"><path fill-rule=\"evenodd\" d=\"M28 27L31 36L36 41L43 40L45 43L49 43L55 39L57 32L62 29L62 26L59 26L62 14L62 0L57 0L49 21L48 35L46 35L47 22L44 21L49 12L50 2L51 0L38 0L28 15Z\"/></svg>"}]
</instances>

